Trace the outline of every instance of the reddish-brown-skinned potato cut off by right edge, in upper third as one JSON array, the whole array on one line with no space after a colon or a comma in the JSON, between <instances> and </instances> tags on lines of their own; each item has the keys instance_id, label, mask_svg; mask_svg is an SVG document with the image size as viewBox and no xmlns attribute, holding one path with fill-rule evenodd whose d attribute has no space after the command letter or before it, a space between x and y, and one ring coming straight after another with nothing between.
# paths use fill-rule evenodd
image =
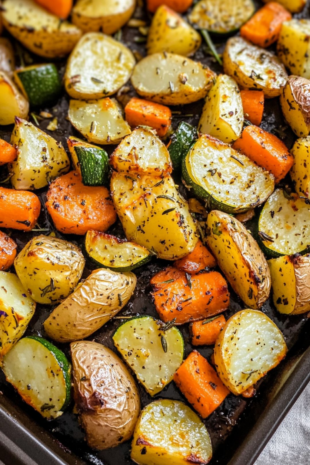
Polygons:
<instances>
[{"instance_id":1,"label":"reddish-brown-skinned potato cut off by right edge, in upper third","mask_svg":"<svg viewBox=\"0 0 310 465\"><path fill-rule=\"evenodd\" d=\"M298 137L310 132L310 80L290 76L281 89L280 103L285 120Z\"/></svg>"}]
</instances>

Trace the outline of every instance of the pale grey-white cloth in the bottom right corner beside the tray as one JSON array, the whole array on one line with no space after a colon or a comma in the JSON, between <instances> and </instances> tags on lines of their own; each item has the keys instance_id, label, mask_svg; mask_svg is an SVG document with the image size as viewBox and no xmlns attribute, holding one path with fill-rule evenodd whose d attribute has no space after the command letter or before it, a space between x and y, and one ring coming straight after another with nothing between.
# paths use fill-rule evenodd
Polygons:
<instances>
[{"instance_id":1,"label":"pale grey-white cloth in the bottom right corner beside the tray","mask_svg":"<svg viewBox=\"0 0 310 465\"><path fill-rule=\"evenodd\" d=\"M310 384L284 418L254 465L310 465Z\"/></svg>"}]
</instances>

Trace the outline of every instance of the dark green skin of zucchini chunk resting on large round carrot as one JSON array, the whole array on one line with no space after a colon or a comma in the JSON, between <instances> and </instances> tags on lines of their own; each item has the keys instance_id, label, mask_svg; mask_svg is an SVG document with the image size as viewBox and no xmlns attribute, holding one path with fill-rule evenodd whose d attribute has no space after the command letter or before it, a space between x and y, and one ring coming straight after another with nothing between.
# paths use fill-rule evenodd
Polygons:
<instances>
[{"instance_id":1,"label":"dark green skin of zucchini chunk resting on large round carrot","mask_svg":"<svg viewBox=\"0 0 310 465\"><path fill-rule=\"evenodd\" d=\"M84 186L105 186L109 179L109 158L102 148L74 147Z\"/></svg>"}]
</instances>

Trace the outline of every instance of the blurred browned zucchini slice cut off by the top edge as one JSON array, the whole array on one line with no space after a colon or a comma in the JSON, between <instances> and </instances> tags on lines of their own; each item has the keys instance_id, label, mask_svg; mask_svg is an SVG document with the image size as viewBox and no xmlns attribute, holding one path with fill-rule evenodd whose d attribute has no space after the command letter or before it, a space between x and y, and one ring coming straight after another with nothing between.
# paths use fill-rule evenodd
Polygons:
<instances>
[{"instance_id":1,"label":"blurred browned zucchini slice cut off by the top edge","mask_svg":"<svg viewBox=\"0 0 310 465\"><path fill-rule=\"evenodd\" d=\"M201 0L192 9L189 20L198 29L230 34L237 31L254 12L252 0Z\"/></svg>"}]
</instances>

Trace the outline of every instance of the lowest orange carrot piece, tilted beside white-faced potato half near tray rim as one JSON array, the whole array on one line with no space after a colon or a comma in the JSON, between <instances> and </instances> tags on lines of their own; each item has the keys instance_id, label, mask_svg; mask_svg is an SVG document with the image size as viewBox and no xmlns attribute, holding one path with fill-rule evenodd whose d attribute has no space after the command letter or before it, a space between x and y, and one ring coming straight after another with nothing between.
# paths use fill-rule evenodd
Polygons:
<instances>
[{"instance_id":1,"label":"lowest orange carrot piece, tilted beside white-faced potato half near tray rim","mask_svg":"<svg viewBox=\"0 0 310 465\"><path fill-rule=\"evenodd\" d=\"M214 412L230 392L218 373L196 350L184 360L173 379L202 418Z\"/></svg>"}]
</instances>

